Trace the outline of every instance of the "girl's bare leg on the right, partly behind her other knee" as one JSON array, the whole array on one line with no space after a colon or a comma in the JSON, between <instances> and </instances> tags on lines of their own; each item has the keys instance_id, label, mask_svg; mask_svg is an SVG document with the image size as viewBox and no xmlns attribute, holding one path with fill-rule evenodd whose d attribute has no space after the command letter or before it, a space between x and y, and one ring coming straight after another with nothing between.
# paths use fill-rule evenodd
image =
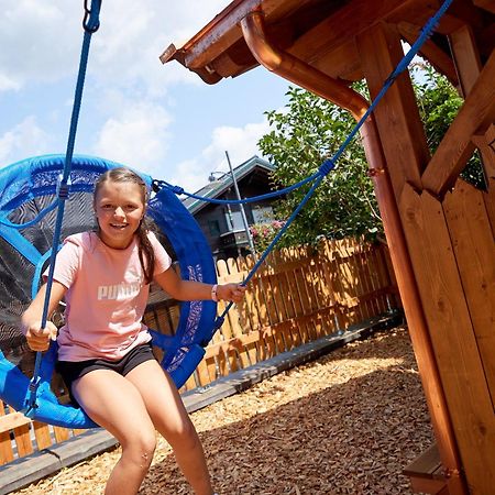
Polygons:
<instances>
[{"instance_id":1,"label":"girl's bare leg on the right, partly behind her other knee","mask_svg":"<svg viewBox=\"0 0 495 495\"><path fill-rule=\"evenodd\" d=\"M195 494L211 495L201 442L170 377L154 360L140 364L125 377L140 391L153 424L174 449Z\"/></svg>"}]
</instances>

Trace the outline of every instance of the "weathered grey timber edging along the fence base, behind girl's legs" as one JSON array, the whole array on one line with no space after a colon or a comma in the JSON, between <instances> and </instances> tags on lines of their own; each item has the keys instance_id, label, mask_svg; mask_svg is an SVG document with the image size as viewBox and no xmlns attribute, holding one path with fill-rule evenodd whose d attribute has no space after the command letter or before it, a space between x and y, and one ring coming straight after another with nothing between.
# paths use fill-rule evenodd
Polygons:
<instances>
[{"instance_id":1,"label":"weathered grey timber edging along the fence base, behind girl's legs","mask_svg":"<svg viewBox=\"0 0 495 495\"><path fill-rule=\"evenodd\" d=\"M188 391L182 395L184 404L189 414L197 411L226 397L239 394L278 373L329 354L349 342L365 339L378 330L396 328L403 321L404 316L400 311L372 318L350 327L341 334L308 342L292 351L231 373L205 387ZM117 443L110 433L98 428L0 466L0 495L21 490L63 468L108 451Z\"/></svg>"}]
</instances>

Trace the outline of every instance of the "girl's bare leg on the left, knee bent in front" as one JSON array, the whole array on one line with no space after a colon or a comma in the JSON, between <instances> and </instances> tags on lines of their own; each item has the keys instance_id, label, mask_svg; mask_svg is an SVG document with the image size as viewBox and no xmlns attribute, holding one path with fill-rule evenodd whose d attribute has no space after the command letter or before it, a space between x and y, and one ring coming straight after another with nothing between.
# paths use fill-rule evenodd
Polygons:
<instances>
[{"instance_id":1,"label":"girl's bare leg on the left, knee bent in front","mask_svg":"<svg viewBox=\"0 0 495 495\"><path fill-rule=\"evenodd\" d=\"M122 447L105 494L135 495L156 446L155 427L140 392L113 371L95 370L74 382L73 393L88 416Z\"/></svg>"}]
</instances>

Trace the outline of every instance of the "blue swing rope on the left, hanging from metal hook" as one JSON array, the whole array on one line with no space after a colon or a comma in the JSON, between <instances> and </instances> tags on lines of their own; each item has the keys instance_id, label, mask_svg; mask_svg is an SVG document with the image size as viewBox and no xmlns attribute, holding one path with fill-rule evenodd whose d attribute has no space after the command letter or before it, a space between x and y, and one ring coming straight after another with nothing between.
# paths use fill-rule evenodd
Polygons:
<instances>
[{"instance_id":1,"label":"blue swing rope on the left, hanging from metal hook","mask_svg":"<svg viewBox=\"0 0 495 495\"><path fill-rule=\"evenodd\" d=\"M55 258L58 251L58 244L59 244L59 238L61 238L61 231L62 231L62 222L64 219L64 209L65 209L65 200L68 198L68 191L70 187L70 169L72 169L72 163L73 163L73 154L74 154L74 144L76 142L76 133L77 133L77 122L79 120L79 111L80 111L80 103L82 99L82 89L85 85L85 78L86 78L86 67L88 65L88 55L89 55L89 45L91 42L91 35L95 33L99 25L99 13L101 8L101 0L91 0L91 8L88 9L88 2L85 0L85 18L82 20L82 28L85 30L85 35L82 38L82 48L81 48L81 55L80 55L80 62L79 62L79 73L77 77L77 85L76 85L76 92L74 97L74 106L73 106L73 113L70 118L70 128L69 128L69 135L67 141L67 152L65 155L65 164L64 164L64 170L63 174L61 174L59 182L58 182L58 188L57 188L57 217L55 221L55 229L53 233L53 246L52 246L52 255L50 257L50 270L48 270L48 277L46 280L46 294L45 294L45 300L43 305L43 316L42 316L42 324L41 328L44 329L46 327L46 320L48 318L48 305L50 305L50 297L52 293L52 286L53 286L53 275L55 271ZM36 392L37 387L40 386L40 367L41 367L41 360L42 360L42 353L36 352L36 361L34 363L34 373L33 377L30 382L29 387L29 398L26 400L26 410L24 413L28 417L33 417L35 409L36 409Z\"/></svg>"}]
</instances>

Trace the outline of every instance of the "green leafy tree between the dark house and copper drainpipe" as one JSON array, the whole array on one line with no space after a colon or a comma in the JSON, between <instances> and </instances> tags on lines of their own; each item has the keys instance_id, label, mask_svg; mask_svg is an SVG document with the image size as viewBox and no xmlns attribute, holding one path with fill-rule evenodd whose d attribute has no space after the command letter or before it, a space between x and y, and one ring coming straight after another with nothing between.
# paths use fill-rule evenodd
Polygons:
<instances>
[{"instance_id":1,"label":"green leafy tree between the dark house and copper drainpipe","mask_svg":"<svg viewBox=\"0 0 495 495\"><path fill-rule=\"evenodd\" d=\"M359 89L363 90L363 85ZM263 154L276 164L272 177L276 187L315 173L355 124L348 111L309 91L289 87L287 97L286 111L266 112L272 130L258 142ZM376 235L382 223L366 170L364 150L354 140L290 226L282 245L314 244L320 235ZM286 219L307 190L302 187L282 200L277 217Z\"/></svg>"}]
</instances>

